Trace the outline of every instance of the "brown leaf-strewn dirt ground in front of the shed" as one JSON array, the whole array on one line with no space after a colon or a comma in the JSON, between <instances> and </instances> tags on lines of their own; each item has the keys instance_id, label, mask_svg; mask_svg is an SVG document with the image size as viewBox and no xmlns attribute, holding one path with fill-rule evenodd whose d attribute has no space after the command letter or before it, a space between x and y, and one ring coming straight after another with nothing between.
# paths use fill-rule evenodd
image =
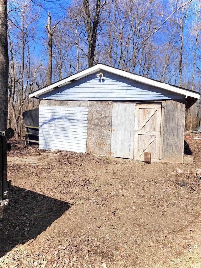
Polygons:
<instances>
[{"instance_id":1,"label":"brown leaf-strewn dirt ground in front of the shed","mask_svg":"<svg viewBox=\"0 0 201 268\"><path fill-rule=\"evenodd\" d=\"M188 165L11 142L1 268L201 267L200 139Z\"/></svg>"}]
</instances>

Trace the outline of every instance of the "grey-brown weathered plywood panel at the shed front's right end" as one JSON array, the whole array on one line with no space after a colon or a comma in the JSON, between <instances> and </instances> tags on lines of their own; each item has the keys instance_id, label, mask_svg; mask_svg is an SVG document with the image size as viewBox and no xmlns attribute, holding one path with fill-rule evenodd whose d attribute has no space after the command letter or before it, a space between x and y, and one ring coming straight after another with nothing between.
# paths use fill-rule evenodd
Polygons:
<instances>
[{"instance_id":1,"label":"grey-brown weathered plywood panel at the shed front's right end","mask_svg":"<svg viewBox=\"0 0 201 268\"><path fill-rule=\"evenodd\" d=\"M184 124L185 99L166 101L163 142L164 162L183 163Z\"/></svg>"}]
</instances>

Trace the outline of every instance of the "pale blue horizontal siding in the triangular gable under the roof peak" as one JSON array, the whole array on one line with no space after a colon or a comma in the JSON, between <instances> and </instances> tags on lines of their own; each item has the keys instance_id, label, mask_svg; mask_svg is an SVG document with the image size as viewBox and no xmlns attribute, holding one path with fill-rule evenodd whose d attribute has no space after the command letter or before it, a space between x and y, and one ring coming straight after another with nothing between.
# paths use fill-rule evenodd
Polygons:
<instances>
[{"instance_id":1,"label":"pale blue horizontal siding in the triangular gable under the roof peak","mask_svg":"<svg viewBox=\"0 0 201 268\"><path fill-rule=\"evenodd\" d=\"M40 99L71 101L151 101L181 98L181 95L135 82L131 79L102 71L103 80L96 74L75 80L68 85L43 94Z\"/></svg>"}]
</instances>

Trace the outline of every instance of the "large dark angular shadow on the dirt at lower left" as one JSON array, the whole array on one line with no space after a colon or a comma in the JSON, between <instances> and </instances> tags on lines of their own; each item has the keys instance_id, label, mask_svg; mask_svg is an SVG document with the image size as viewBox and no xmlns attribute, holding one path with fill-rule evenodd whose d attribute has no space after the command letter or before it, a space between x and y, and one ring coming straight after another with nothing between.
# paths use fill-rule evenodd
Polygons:
<instances>
[{"instance_id":1,"label":"large dark angular shadow on the dirt at lower left","mask_svg":"<svg viewBox=\"0 0 201 268\"><path fill-rule=\"evenodd\" d=\"M70 204L12 186L0 220L0 257L18 244L36 238L70 208Z\"/></svg>"}]
</instances>

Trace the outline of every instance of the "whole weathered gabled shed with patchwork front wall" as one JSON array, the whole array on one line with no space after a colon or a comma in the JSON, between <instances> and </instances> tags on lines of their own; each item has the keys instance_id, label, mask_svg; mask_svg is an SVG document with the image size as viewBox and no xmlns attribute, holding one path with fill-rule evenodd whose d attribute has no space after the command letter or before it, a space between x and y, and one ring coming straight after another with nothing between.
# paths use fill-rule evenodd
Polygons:
<instances>
[{"instance_id":1,"label":"whole weathered gabled shed with patchwork front wall","mask_svg":"<svg viewBox=\"0 0 201 268\"><path fill-rule=\"evenodd\" d=\"M36 90L39 149L183 162L187 90L97 64Z\"/></svg>"}]
</instances>

